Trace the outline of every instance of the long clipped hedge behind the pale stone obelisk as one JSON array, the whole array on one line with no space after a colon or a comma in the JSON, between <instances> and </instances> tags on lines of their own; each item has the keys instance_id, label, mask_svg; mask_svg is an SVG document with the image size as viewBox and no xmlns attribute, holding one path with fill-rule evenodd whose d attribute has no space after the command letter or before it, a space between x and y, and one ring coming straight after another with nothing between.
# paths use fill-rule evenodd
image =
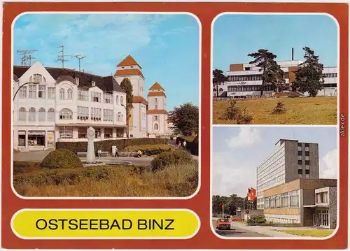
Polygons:
<instances>
[{"instance_id":1,"label":"long clipped hedge behind the pale stone obelisk","mask_svg":"<svg viewBox=\"0 0 350 251\"><path fill-rule=\"evenodd\" d=\"M164 144L165 141L168 141L166 138L130 138L129 146L131 145L155 145L155 144ZM112 152L112 145L118 147L118 151L125 149L127 146L127 139L112 139L104 141L94 142L94 151L97 155L98 150L102 152ZM87 152L87 142L56 142L56 149L67 149L71 150L74 153L77 152Z\"/></svg>"}]
</instances>

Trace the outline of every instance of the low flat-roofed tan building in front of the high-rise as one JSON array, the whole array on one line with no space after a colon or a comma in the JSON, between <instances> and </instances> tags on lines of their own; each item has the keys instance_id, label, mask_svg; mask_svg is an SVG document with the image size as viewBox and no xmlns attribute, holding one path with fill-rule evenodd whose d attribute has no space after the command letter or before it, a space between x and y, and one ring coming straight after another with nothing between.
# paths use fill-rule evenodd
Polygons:
<instances>
[{"instance_id":1,"label":"low flat-roofed tan building in front of the high-rise","mask_svg":"<svg viewBox=\"0 0 350 251\"><path fill-rule=\"evenodd\" d=\"M267 222L337 227L337 180L296 179L263 192Z\"/></svg>"}]
</instances>

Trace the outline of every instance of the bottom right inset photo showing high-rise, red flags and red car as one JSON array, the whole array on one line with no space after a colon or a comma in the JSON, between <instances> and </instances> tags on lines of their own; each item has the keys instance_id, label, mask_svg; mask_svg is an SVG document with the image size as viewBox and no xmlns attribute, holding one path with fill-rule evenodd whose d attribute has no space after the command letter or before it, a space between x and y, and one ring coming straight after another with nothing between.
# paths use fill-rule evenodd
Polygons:
<instances>
[{"instance_id":1,"label":"bottom right inset photo showing high-rise, red flags and red car","mask_svg":"<svg viewBox=\"0 0 350 251\"><path fill-rule=\"evenodd\" d=\"M337 127L214 126L211 221L221 238L328 238L337 229Z\"/></svg>"}]
</instances>

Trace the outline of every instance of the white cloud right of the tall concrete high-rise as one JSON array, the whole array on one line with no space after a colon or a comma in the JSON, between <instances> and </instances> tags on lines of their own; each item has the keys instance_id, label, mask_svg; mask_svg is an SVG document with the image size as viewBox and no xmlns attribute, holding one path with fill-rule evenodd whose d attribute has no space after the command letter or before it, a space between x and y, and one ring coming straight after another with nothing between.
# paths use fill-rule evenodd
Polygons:
<instances>
[{"instance_id":1,"label":"white cloud right of the tall concrete high-rise","mask_svg":"<svg viewBox=\"0 0 350 251\"><path fill-rule=\"evenodd\" d=\"M338 155L337 149L327 152L321 160L320 178L337 178L338 177Z\"/></svg>"}]
</instances>

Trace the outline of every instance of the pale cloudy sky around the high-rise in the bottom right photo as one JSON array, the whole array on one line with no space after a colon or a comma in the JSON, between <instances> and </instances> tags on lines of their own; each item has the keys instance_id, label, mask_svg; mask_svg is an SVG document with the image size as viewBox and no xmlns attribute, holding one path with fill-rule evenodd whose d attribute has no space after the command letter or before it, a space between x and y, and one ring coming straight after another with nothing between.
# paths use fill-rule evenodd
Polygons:
<instances>
[{"instance_id":1,"label":"pale cloudy sky around the high-rise in the bottom right photo","mask_svg":"<svg viewBox=\"0 0 350 251\"><path fill-rule=\"evenodd\" d=\"M318 143L320 178L337 178L336 127L214 127L213 193L245 196L256 187L256 167L280 138Z\"/></svg>"}]
</instances>

